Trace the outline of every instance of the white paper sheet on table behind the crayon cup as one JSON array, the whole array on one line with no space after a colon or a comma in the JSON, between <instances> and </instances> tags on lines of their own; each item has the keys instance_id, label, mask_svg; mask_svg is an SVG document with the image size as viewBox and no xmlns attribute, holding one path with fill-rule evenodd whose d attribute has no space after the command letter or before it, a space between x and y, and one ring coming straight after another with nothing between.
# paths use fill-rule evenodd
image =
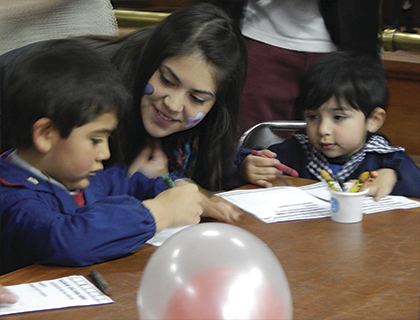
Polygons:
<instances>
[{"instance_id":1,"label":"white paper sheet on table behind the crayon cup","mask_svg":"<svg viewBox=\"0 0 420 320\"><path fill-rule=\"evenodd\" d=\"M217 196L251 213L265 223L325 218L331 215L330 192L326 183L304 187L272 187L222 192ZM420 207L420 202L401 196L380 201L366 197L363 213Z\"/></svg>"}]
</instances>

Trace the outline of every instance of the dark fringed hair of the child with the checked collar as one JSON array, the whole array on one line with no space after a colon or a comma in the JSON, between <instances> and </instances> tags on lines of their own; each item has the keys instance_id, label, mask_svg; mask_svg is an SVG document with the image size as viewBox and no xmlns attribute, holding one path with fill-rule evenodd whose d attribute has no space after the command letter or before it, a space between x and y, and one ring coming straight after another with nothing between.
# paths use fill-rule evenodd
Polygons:
<instances>
[{"instance_id":1,"label":"dark fringed hair of the child with the checked collar","mask_svg":"<svg viewBox=\"0 0 420 320\"><path fill-rule=\"evenodd\" d=\"M330 98L344 98L366 117L380 107L386 110L386 70L380 60L355 53L336 51L317 60L302 77L296 100L296 118L303 111L318 109Z\"/></svg>"}]
</instances>

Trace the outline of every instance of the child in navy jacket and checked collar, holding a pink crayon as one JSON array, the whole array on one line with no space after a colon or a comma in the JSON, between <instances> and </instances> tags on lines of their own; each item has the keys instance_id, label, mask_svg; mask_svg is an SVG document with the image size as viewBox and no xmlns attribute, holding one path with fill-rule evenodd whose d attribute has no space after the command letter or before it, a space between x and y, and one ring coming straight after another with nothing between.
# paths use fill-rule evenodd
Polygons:
<instances>
[{"instance_id":1,"label":"child in navy jacket and checked collar, holding a pink crayon","mask_svg":"<svg viewBox=\"0 0 420 320\"><path fill-rule=\"evenodd\" d=\"M335 180L357 179L365 171L379 176L369 195L403 195L420 198L420 169L404 152L377 131L385 121L386 72L380 61L351 52L325 55L304 75L297 100L307 123L299 133L261 153L240 150L243 179L263 187L281 174L279 161L300 177L323 180L326 170Z\"/></svg>"}]
</instances>

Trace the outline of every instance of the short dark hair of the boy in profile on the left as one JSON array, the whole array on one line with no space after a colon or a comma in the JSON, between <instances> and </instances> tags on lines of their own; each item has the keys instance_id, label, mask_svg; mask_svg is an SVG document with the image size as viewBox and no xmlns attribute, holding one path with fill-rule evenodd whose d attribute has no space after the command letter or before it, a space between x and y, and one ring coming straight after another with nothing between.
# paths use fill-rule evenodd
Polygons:
<instances>
[{"instance_id":1,"label":"short dark hair of the boy in profile on the left","mask_svg":"<svg viewBox=\"0 0 420 320\"><path fill-rule=\"evenodd\" d=\"M32 126L42 117L63 138L104 113L121 118L130 97L116 68L80 41L41 42L10 75L5 100L12 144L31 147Z\"/></svg>"}]
</instances>

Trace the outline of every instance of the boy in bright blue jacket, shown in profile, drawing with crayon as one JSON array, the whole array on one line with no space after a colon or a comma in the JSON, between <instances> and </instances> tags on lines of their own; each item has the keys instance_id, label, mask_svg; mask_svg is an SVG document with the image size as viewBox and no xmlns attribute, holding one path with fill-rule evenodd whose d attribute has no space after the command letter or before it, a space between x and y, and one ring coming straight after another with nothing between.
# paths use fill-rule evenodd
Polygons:
<instances>
[{"instance_id":1,"label":"boy in bright blue jacket, shown in profile, drawing with crayon","mask_svg":"<svg viewBox=\"0 0 420 320\"><path fill-rule=\"evenodd\" d=\"M0 274L33 263L82 266L121 257L166 227L195 224L196 185L103 171L130 95L119 73L77 40L22 57L6 99L14 149L0 157ZM168 189L168 190L167 190Z\"/></svg>"}]
</instances>

